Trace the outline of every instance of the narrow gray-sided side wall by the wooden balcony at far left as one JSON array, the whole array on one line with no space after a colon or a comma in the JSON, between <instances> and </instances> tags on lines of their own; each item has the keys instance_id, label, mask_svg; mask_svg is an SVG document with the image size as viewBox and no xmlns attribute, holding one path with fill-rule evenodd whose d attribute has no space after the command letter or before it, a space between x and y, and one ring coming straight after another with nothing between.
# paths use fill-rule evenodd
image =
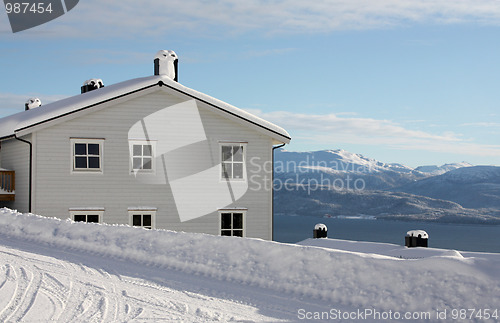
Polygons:
<instances>
[{"instance_id":1,"label":"narrow gray-sided side wall by the wooden balcony at far left","mask_svg":"<svg viewBox=\"0 0 500 323\"><path fill-rule=\"evenodd\" d=\"M21 139L31 141L31 135ZM2 142L2 168L16 171L16 199L3 202L8 208L19 212L28 212L29 207L29 159L30 151L27 143L16 139Z\"/></svg>"}]
</instances>

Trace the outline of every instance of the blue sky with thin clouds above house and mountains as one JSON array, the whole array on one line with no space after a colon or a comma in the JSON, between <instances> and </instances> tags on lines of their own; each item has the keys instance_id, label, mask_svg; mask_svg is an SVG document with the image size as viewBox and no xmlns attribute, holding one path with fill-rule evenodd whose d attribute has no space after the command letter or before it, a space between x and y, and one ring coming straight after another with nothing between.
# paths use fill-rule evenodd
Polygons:
<instances>
[{"instance_id":1,"label":"blue sky with thin clouds above house and mountains","mask_svg":"<svg viewBox=\"0 0 500 323\"><path fill-rule=\"evenodd\" d=\"M289 150L409 166L500 165L500 2L80 1L13 34L0 12L0 117L153 73L272 121Z\"/></svg>"}]
</instances>

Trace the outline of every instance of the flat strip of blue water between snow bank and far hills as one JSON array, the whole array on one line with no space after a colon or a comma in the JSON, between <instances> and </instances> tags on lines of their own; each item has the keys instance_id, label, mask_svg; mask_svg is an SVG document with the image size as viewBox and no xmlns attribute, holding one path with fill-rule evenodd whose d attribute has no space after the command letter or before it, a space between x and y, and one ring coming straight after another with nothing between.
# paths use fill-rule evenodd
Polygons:
<instances>
[{"instance_id":1,"label":"flat strip of blue water between snow bank and far hills","mask_svg":"<svg viewBox=\"0 0 500 323\"><path fill-rule=\"evenodd\" d=\"M500 225L275 216L274 240L294 243L312 238L317 223L326 224L328 237L334 239L404 245L407 231L425 230L429 247L500 253Z\"/></svg>"}]
</instances>

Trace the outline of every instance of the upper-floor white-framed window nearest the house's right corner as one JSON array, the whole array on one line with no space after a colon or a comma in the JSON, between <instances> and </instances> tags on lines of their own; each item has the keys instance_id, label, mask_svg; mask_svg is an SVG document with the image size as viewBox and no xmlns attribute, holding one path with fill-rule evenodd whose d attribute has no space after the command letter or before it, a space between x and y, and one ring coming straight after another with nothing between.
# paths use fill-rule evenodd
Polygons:
<instances>
[{"instance_id":1,"label":"upper-floor white-framed window nearest the house's right corner","mask_svg":"<svg viewBox=\"0 0 500 323\"><path fill-rule=\"evenodd\" d=\"M220 143L221 179L246 180L246 143Z\"/></svg>"}]
</instances>

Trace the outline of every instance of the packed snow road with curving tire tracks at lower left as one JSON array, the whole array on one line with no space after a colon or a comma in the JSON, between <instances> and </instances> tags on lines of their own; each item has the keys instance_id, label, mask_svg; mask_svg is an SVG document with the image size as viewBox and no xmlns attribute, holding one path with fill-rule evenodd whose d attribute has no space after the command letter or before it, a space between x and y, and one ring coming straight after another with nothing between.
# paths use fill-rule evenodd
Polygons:
<instances>
[{"instance_id":1,"label":"packed snow road with curving tire tracks at lower left","mask_svg":"<svg viewBox=\"0 0 500 323\"><path fill-rule=\"evenodd\" d=\"M0 236L0 322L279 322L320 305ZM324 307L325 305L323 305Z\"/></svg>"}]
</instances>

